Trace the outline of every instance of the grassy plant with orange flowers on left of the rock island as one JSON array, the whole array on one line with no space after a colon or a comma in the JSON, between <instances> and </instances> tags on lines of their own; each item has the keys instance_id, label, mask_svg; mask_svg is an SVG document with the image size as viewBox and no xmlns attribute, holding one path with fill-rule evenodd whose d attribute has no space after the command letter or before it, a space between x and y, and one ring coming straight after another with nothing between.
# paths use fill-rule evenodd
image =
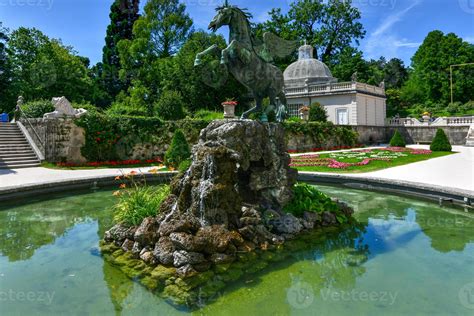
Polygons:
<instances>
[{"instance_id":1,"label":"grassy plant with orange flowers on left of the rock island","mask_svg":"<svg viewBox=\"0 0 474 316\"><path fill-rule=\"evenodd\" d=\"M170 194L170 188L168 185L133 185L118 192L119 202L113 207L114 221L136 226L146 217L158 214L161 203Z\"/></svg>"}]
</instances>

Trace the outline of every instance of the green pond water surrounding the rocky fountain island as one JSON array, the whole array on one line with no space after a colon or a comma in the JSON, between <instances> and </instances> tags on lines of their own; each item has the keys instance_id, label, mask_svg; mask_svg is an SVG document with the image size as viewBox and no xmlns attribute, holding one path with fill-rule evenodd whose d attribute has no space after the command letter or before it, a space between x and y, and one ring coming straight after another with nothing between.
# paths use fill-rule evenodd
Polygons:
<instances>
[{"instance_id":1,"label":"green pond water surrounding the rocky fountain island","mask_svg":"<svg viewBox=\"0 0 474 316\"><path fill-rule=\"evenodd\" d=\"M400 196L318 186L361 229L178 309L104 262L112 191L0 206L0 315L473 315L474 214Z\"/></svg>"}]
</instances>

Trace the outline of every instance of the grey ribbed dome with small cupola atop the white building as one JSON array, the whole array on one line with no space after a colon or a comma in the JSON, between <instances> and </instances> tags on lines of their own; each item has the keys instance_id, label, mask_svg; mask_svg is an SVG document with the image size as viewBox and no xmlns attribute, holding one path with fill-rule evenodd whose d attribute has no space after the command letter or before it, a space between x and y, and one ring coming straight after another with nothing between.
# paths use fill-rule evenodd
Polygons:
<instances>
[{"instance_id":1,"label":"grey ribbed dome with small cupola atop the white building","mask_svg":"<svg viewBox=\"0 0 474 316\"><path fill-rule=\"evenodd\" d=\"M305 84L325 84L336 82L323 62L313 58L313 47L303 45L299 48L298 61L292 63L283 73L285 86L301 87Z\"/></svg>"}]
</instances>

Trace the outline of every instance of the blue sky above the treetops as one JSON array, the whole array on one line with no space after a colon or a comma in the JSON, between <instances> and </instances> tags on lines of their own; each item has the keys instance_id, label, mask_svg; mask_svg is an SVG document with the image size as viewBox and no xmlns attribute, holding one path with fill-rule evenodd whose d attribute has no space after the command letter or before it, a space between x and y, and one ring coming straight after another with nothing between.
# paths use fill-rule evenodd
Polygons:
<instances>
[{"instance_id":1,"label":"blue sky above the treetops","mask_svg":"<svg viewBox=\"0 0 474 316\"><path fill-rule=\"evenodd\" d=\"M182 0L196 28L206 28L214 8L223 0ZM0 21L11 29L36 27L61 38L92 64L101 60L109 8L113 0L0 0ZM145 0L141 1L142 6ZM264 21L268 11L287 11L291 0L231 0L246 7L254 21ZM353 0L362 12L367 31L360 49L365 58L398 57L410 63L428 32L454 32L474 43L474 0ZM223 30L225 33L226 30Z\"/></svg>"}]
</instances>

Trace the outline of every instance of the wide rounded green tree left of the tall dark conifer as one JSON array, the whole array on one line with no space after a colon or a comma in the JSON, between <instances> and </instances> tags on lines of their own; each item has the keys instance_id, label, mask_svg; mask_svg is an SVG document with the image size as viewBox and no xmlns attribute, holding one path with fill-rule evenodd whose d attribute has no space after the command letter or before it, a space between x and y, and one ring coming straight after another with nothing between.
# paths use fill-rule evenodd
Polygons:
<instances>
[{"instance_id":1,"label":"wide rounded green tree left of the tall dark conifer","mask_svg":"<svg viewBox=\"0 0 474 316\"><path fill-rule=\"evenodd\" d=\"M8 56L14 90L26 100L62 95L77 102L89 99L88 61L60 40L20 27L11 33Z\"/></svg>"}]
</instances>

